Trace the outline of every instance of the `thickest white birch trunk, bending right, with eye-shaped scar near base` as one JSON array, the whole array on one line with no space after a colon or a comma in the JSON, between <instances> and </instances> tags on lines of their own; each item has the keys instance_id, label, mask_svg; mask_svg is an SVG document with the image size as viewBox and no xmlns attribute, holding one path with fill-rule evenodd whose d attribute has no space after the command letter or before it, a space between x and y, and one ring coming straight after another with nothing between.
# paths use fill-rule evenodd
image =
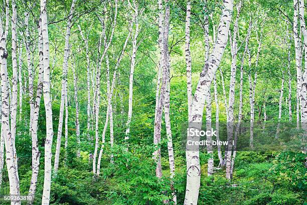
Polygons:
<instances>
[{"instance_id":1,"label":"thickest white birch trunk, bending right, with eye-shaped scar near base","mask_svg":"<svg viewBox=\"0 0 307 205\"><path fill-rule=\"evenodd\" d=\"M205 103L206 92L210 89L211 82L214 78L217 68L225 51L225 47L228 41L228 31L230 27L231 17L233 10L233 1L225 1L224 7L219 23L217 40L214 45L213 51L209 57L209 60L205 63L205 66L200 74L200 79L197 85L197 89L194 94L194 100L191 109L191 119L193 123L197 123L197 128L201 129L203 109ZM189 128L194 128L195 124L189 124ZM188 140L191 136L188 135ZM194 137L193 141L198 141L199 137ZM198 201L198 194L200 188L200 160L199 150L195 150L195 147L191 149L187 144L186 147L186 161L187 161L187 186L185 195L185 205L195 205Z\"/></svg>"}]
</instances>

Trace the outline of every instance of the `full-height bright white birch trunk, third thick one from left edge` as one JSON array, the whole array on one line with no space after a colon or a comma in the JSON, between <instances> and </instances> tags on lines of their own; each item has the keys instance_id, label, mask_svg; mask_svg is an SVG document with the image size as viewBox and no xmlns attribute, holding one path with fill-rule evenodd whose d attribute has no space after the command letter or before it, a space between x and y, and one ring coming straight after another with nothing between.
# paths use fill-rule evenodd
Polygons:
<instances>
[{"instance_id":1,"label":"full-height bright white birch trunk, third thick one from left edge","mask_svg":"<svg viewBox=\"0 0 307 205\"><path fill-rule=\"evenodd\" d=\"M50 99L50 65L49 65L49 37L48 37L48 20L46 0L41 0L41 19L42 19L42 36L43 36L43 56L44 56L44 104L46 110L46 141L45 141L45 174L42 205L49 205L51 190L51 158L52 158L52 140L53 140L53 123L52 123L52 105Z\"/></svg>"}]
</instances>

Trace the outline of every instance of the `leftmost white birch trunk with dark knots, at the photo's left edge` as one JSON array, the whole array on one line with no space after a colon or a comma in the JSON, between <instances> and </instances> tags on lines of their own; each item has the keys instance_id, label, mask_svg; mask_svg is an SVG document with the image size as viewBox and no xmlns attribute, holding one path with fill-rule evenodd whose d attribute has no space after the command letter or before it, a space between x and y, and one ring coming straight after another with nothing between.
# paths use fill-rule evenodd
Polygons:
<instances>
[{"instance_id":1,"label":"leftmost white birch trunk with dark knots, at the photo's left edge","mask_svg":"<svg viewBox=\"0 0 307 205\"><path fill-rule=\"evenodd\" d=\"M14 2L15 3L15 2ZM13 11L13 18L16 18L16 5L13 5L15 11ZM10 103L9 103L9 87L8 87L8 51L7 51L7 37L9 33L9 1L6 1L6 23L4 27L4 18L0 22L0 64L1 64L1 91L2 91L2 132L4 136L5 148L6 148L6 163L8 167L8 176L10 181L10 194L19 195L19 177L17 169L17 156L14 146L14 140L10 128ZM16 19L15 19L16 20ZM14 20L13 20L14 21ZM16 21L14 21L16 22ZM15 31L16 32L16 31ZM16 52L16 50L15 50ZM21 204L20 200L11 201L11 204Z\"/></svg>"}]
</instances>

